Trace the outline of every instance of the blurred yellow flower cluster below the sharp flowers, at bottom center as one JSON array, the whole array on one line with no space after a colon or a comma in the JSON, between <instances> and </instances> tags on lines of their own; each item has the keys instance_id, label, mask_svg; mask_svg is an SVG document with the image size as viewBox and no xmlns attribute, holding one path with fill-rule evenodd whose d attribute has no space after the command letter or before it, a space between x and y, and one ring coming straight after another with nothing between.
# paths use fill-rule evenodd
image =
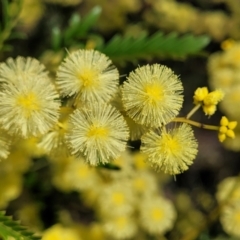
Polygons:
<instances>
[{"instance_id":1,"label":"blurred yellow flower cluster below the sharp flowers, at bottom center","mask_svg":"<svg viewBox=\"0 0 240 240\"><path fill-rule=\"evenodd\" d=\"M163 191L164 182L171 179L154 174L145 154L122 153L115 160L121 170L115 171L91 167L75 157L57 160L52 162L53 183L63 191L79 192L84 204L96 213L95 224L101 231L101 237L93 237L92 225L85 226L85 233L81 224L66 224L73 231L78 229L78 238L70 239L139 239L146 233L161 236L172 229L176 210ZM43 232L43 239L52 240L60 232L55 225Z\"/></svg>"}]
</instances>

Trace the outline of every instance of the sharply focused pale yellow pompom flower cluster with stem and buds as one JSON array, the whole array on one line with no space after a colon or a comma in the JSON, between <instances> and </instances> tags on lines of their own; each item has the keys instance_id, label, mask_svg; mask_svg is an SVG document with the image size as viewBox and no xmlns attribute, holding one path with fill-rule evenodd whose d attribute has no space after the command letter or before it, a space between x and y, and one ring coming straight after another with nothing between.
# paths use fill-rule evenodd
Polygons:
<instances>
[{"instance_id":1,"label":"sharply focused pale yellow pompom flower cluster with stem and buds","mask_svg":"<svg viewBox=\"0 0 240 240\"><path fill-rule=\"evenodd\" d=\"M198 88L196 106L179 118L183 86L171 69L145 65L119 86L116 67L94 50L69 53L57 70L55 84L38 60L10 58L0 64L0 83L0 127L6 134L37 137L38 147L50 157L74 155L93 166L116 160L129 140L141 139L146 161L171 175L187 170L198 152L190 125L200 123L190 117L201 106L212 115L223 98L221 90ZM217 127L220 141L234 137L236 125L222 122ZM9 142L2 137L1 144L5 151L0 156L6 158Z\"/></svg>"}]
</instances>

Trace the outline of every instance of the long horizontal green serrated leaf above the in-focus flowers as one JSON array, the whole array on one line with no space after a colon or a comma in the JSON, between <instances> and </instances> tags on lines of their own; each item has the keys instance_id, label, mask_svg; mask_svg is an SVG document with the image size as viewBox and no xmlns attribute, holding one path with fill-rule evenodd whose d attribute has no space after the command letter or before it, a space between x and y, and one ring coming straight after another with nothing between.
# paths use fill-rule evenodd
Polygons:
<instances>
[{"instance_id":1,"label":"long horizontal green serrated leaf above the in-focus flowers","mask_svg":"<svg viewBox=\"0 0 240 240\"><path fill-rule=\"evenodd\" d=\"M207 36L176 33L164 35L157 32L152 36L142 35L139 38L115 35L108 43L97 50L105 53L113 60L125 61L146 59L149 57L184 58L202 50L210 39Z\"/></svg>"}]
</instances>

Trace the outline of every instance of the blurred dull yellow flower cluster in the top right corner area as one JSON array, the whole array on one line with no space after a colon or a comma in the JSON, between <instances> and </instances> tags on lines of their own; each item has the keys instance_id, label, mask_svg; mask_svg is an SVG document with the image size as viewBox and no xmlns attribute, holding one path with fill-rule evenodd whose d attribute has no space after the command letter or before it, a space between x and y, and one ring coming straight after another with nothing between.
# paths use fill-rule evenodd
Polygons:
<instances>
[{"instance_id":1,"label":"blurred dull yellow flower cluster in the top right corner area","mask_svg":"<svg viewBox=\"0 0 240 240\"><path fill-rule=\"evenodd\" d=\"M145 20L160 29L180 33L206 33L222 40L237 28L234 16L223 11L202 11L191 3L176 0L148 0L151 8L144 12Z\"/></svg>"}]
</instances>

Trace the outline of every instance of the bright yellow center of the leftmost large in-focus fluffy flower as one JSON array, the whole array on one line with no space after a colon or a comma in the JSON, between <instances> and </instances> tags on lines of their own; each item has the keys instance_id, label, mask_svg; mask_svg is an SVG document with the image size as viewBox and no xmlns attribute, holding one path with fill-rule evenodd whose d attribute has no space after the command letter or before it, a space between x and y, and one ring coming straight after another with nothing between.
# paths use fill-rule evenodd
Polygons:
<instances>
[{"instance_id":1,"label":"bright yellow center of the leftmost large in-focus fluffy flower","mask_svg":"<svg viewBox=\"0 0 240 240\"><path fill-rule=\"evenodd\" d=\"M23 108L23 111L27 117L31 115L32 111L39 110L39 101L34 93L19 96L17 99L17 104Z\"/></svg>"}]
</instances>

